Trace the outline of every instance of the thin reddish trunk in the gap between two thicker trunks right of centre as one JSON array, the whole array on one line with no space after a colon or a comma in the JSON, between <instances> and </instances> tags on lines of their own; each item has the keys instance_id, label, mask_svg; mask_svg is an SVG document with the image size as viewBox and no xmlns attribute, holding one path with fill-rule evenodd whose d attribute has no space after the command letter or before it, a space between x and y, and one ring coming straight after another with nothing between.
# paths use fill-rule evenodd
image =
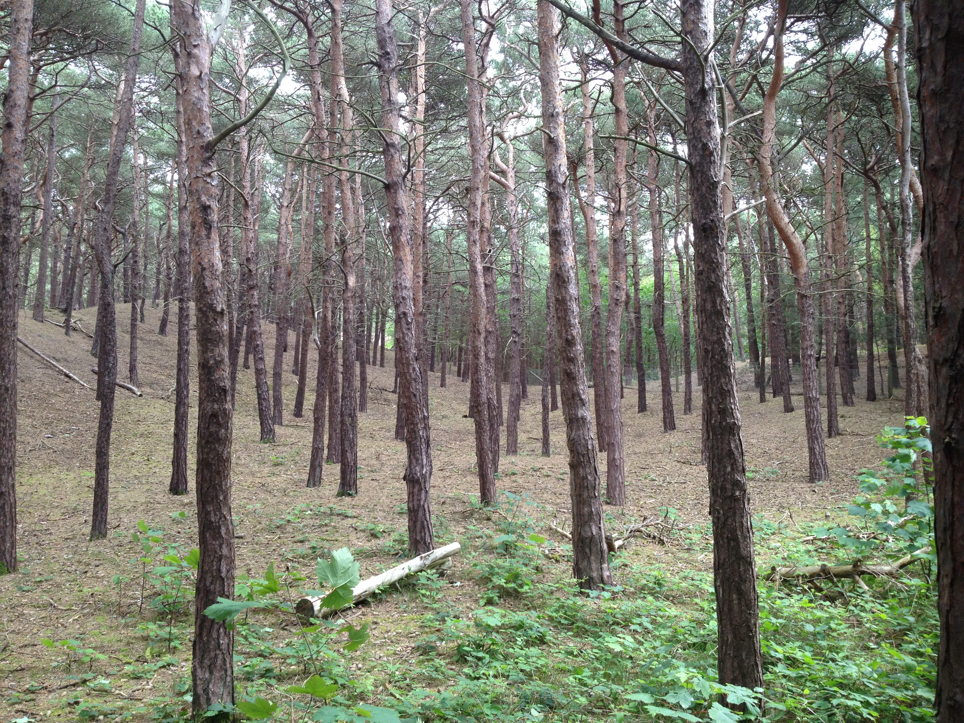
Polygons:
<instances>
[{"instance_id":1,"label":"thin reddish trunk in the gap between two thicker trunks right of centre","mask_svg":"<svg viewBox=\"0 0 964 723\"><path fill-rule=\"evenodd\" d=\"M579 182L574 171L573 188L582 221L586 226L586 257L589 274L589 320L590 345L592 347L593 369L593 410L596 413L596 439L599 450L606 448L605 415L605 341L603 340L603 284L600 282L599 237L596 229L596 154L593 143L593 100L587 81L587 59L579 58L579 73L582 90L582 135L586 147L586 197L579 193ZM575 243L575 241L574 241ZM576 276L576 278L578 278Z\"/></svg>"}]
</instances>

